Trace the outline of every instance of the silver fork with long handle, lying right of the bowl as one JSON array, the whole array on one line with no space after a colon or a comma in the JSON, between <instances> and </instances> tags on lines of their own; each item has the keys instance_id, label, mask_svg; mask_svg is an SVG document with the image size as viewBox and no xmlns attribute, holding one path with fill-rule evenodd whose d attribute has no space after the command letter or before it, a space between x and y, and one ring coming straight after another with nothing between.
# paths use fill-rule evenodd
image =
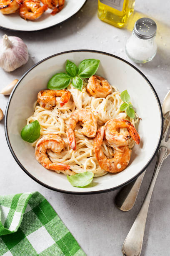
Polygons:
<instances>
[{"instance_id":1,"label":"silver fork with long handle, lying right of the bowl","mask_svg":"<svg viewBox=\"0 0 170 256\"><path fill-rule=\"evenodd\" d=\"M130 229L128 236L125 239L125 242L122 246L122 253L124 256L140 256L142 251L143 244L143 236L145 232L145 223L148 214L148 208L150 203L150 198L153 193L153 188L155 185L155 181L157 179L160 167L164 161L170 154L170 137L168 136L168 130L170 128L170 113L167 113L166 118L164 120L164 133L163 138L160 143L160 148L158 149L157 162L155 166L155 170L153 172L153 177L150 182L150 186L148 188L147 194L143 201L143 204L138 212L138 215L133 223L132 228ZM167 139L168 136L168 139Z\"/></svg>"}]
</instances>

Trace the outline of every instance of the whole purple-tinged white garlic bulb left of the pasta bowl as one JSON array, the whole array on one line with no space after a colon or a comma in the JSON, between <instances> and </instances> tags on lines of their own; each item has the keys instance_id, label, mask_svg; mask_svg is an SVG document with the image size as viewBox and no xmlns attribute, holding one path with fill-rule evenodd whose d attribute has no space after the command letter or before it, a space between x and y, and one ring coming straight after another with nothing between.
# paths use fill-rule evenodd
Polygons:
<instances>
[{"instance_id":1,"label":"whole purple-tinged white garlic bulb left of the pasta bowl","mask_svg":"<svg viewBox=\"0 0 170 256\"><path fill-rule=\"evenodd\" d=\"M23 40L4 35L0 41L0 67L7 72L21 67L28 61L28 49Z\"/></svg>"}]
</instances>

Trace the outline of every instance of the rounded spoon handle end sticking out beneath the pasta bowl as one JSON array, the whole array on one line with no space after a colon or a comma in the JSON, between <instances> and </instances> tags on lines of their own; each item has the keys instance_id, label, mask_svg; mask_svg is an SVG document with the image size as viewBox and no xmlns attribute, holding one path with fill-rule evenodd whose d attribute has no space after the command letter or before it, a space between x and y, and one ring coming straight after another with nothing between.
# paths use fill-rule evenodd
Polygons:
<instances>
[{"instance_id":1,"label":"rounded spoon handle end sticking out beneath the pasta bowl","mask_svg":"<svg viewBox=\"0 0 170 256\"><path fill-rule=\"evenodd\" d=\"M128 185L124 186L117 193L115 197L115 205L118 209L127 212L133 208L145 172L143 172L137 179L135 179L135 181L130 182Z\"/></svg>"}]
</instances>

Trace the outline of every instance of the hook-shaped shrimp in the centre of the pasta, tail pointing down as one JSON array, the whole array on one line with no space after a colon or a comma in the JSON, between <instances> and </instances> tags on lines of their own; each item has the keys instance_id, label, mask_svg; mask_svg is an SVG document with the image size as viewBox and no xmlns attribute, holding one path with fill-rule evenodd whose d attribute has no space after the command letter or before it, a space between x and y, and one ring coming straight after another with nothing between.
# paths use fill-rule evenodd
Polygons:
<instances>
[{"instance_id":1,"label":"hook-shaped shrimp in the centre of the pasta, tail pointing down","mask_svg":"<svg viewBox=\"0 0 170 256\"><path fill-rule=\"evenodd\" d=\"M97 120L91 110L80 108L75 110L69 117L67 126L67 138L70 147L76 150L76 142L73 130L76 124L81 121L83 123L82 134L88 138L94 138L97 131Z\"/></svg>"}]
</instances>

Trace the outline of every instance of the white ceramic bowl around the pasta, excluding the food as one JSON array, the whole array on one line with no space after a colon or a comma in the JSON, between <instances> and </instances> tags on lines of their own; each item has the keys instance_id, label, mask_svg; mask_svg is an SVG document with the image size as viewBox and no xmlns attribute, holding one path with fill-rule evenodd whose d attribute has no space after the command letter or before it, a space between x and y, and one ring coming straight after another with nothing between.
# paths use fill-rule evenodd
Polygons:
<instances>
[{"instance_id":1,"label":"white ceramic bowl around the pasta, excluding the food","mask_svg":"<svg viewBox=\"0 0 170 256\"><path fill-rule=\"evenodd\" d=\"M135 145L128 167L117 174L93 179L87 188L72 187L64 174L48 171L35 159L33 148L20 137L25 119L33 113L33 103L40 90L57 72L65 70L65 61L79 64L83 59L99 59L97 74L105 77L120 92L128 90L133 106L142 120L138 132L140 145ZM117 189L141 174L153 159L163 131L163 115L159 98L148 79L132 64L117 56L99 51L75 50L50 56L26 72L15 86L7 104L5 134L7 143L19 166L43 186L72 194L92 194Z\"/></svg>"}]
</instances>

